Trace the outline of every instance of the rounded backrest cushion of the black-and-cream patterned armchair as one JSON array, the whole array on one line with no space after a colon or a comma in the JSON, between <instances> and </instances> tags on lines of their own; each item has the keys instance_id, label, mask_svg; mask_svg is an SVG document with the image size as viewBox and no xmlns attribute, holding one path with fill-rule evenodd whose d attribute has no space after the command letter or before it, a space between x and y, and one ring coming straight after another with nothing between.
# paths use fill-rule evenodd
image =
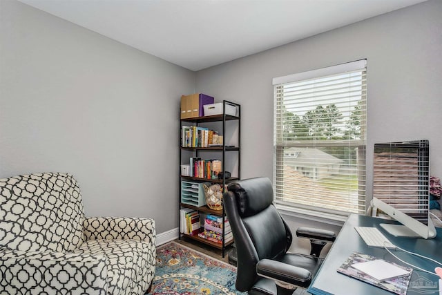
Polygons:
<instances>
[{"instance_id":1,"label":"rounded backrest cushion of the black-and-cream patterned armchair","mask_svg":"<svg viewBox=\"0 0 442 295\"><path fill-rule=\"evenodd\" d=\"M72 251L83 243L84 209L77 180L37 173L0 180L1 246Z\"/></svg>"}]
</instances>

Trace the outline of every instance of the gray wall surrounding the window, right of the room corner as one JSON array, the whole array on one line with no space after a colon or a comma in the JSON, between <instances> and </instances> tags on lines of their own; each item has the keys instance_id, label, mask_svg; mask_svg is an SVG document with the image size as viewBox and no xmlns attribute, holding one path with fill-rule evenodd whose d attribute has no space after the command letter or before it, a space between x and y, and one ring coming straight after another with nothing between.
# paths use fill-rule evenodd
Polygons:
<instances>
[{"instance_id":1,"label":"gray wall surrounding the window, right of the room corner","mask_svg":"<svg viewBox=\"0 0 442 295\"><path fill-rule=\"evenodd\" d=\"M367 195L376 142L430 140L442 177L441 15L442 1L427 1L200 70L198 91L241 104L242 178L272 179L272 78L357 59L367 59Z\"/></svg>"}]
</instances>

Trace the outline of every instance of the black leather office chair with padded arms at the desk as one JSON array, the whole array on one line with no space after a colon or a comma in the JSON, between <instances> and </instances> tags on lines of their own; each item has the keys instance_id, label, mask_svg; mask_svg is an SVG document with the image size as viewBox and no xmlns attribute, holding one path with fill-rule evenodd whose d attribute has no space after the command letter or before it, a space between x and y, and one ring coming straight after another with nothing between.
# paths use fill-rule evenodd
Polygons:
<instances>
[{"instance_id":1,"label":"black leather office chair with padded arms at the desk","mask_svg":"<svg viewBox=\"0 0 442 295\"><path fill-rule=\"evenodd\" d=\"M309 287L323 261L320 251L336 234L298 228L297 236L311 240L311 255L287 253L291 231L273 206L268 178L231 183L223 198L237 249L236 289L250 295L292 294L297 287Z\"/></svg>"}]
</instances>

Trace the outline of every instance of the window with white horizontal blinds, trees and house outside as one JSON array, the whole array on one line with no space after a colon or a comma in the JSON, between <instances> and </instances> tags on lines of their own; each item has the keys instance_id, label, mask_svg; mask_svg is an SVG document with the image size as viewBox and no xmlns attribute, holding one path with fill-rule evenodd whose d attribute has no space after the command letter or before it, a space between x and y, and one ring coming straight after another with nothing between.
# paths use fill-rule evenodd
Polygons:
<instances>
[{"instance_id":1,"label":"window with white horizontal blinds, trees and house outside","mask_svg":"<svg viewBox=\"0 0 442 295\"><path fill-rule=\"evenodd\" d=\"M365 212L366 60L273 79L276 202Z\"/></svg>"}]
</instances>

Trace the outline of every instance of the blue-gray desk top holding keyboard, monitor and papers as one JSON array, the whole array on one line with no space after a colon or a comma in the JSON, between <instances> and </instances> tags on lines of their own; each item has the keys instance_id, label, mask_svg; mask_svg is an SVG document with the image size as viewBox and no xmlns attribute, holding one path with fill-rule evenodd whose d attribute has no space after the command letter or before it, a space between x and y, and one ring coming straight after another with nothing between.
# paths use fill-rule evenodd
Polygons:
<instances>
[{"instance_id":1,"label":"blue-gray desk top holding keyboard, monitor and papers","mask_svg":"<svg viewBox=\"0 0 442 295\"><path fill-rule=\"evenodd\" d=\"M383 220L380 218L373 218L368 216L360 216L352 214L345 222L343 228L340 230L336 241L332 245L329 254L325 258L323 265L321 265L318 274L314 278L307 292L314 295L336 294L336 295L383 295L393 294L381 288L374 287L368 283L363 283L360 280L345 276L336 272L336 269L352 254L354 251L363 254L369 254L381 259L392 261L399 265L403 265L401 261L397 260L383 248L367 247L362 238L358 235L354 227L377 227L394 245L401 247L407 251L419 253L421 255L433 258L436 261L442 262L442 229L437 229L436 238L425 240L423 238L398 238L391 236L384 229L380 223L397 223L393 220ZM417 256L411 256L404 251L393 251L396 256L412 263L418 267L434 271L436 266L430 260L423 260ZM436 276L414 270L410 285L407 289L407 295L414 294L439 294L439 283Z\"/></svg>"}]
</instances>

